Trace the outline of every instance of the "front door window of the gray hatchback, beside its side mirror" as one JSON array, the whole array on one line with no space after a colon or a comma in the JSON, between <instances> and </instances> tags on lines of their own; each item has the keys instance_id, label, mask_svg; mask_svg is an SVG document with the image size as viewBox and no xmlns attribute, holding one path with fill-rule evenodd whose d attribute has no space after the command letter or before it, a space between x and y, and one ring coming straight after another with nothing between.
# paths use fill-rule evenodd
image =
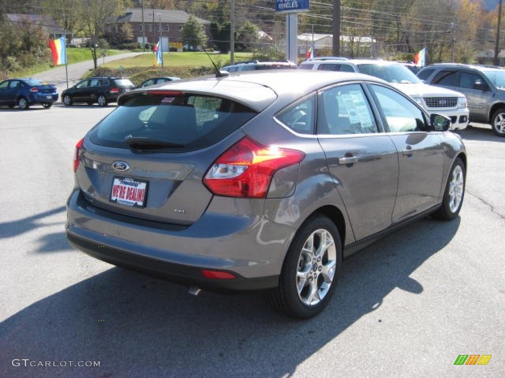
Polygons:
<instances>
[{"instance_id":1,"label":"front door window of the gray hatchback, beside its side mirror","mask_svg":"<svg viewBox=\"0 0 505 378\"><path fill-rule=\"evenodd\" d=\"M370 86L392 133L423 131L426 129L423 112L406 97L392 89Z\"/></svg>"}]
</instances>

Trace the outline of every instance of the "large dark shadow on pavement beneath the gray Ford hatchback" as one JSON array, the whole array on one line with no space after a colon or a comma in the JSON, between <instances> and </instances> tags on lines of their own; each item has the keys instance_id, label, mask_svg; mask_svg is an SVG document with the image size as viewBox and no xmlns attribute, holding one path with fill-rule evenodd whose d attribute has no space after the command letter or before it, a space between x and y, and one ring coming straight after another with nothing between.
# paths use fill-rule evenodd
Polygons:
<instances>
[{"instance_id":1,"label":"large dark shadow on pavement beneath the gray Ford hatchback","mask_svg":"<svg viewBox=\"0 0 505 378\"><path fill-rule=\"evenodd\" d=\"M411 274L452 239L459 224L460 218L448 223L425 218L350 257L336 295L308 321L285 318L262 293L203 291L195 297L184 286L111 268L2 322L0 376L289 376L377 310L391 291L422 295L423 283ZM388 321L394 320L371 318L377 328ZM335 358L338 348L347 348L345 340L332 346ZM23 358L99 361L99 366L13 366L13 359Z\"/></svg>"}]
</instances>

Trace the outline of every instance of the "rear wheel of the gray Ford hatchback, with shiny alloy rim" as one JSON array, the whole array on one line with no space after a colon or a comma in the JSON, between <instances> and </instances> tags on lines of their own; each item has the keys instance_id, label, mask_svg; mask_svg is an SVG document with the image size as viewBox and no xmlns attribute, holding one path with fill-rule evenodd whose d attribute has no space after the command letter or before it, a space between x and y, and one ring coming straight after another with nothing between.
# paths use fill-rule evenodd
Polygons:
<instances>
[{"instance_id":1,"label":"rear wheel of the gray Ford hatchback, with shiny alloy rim","mask_svg":"<svg viewBox=\"0 0 505 378\"><path fill-rule=\"evenodd\" d=\"M287 316L309 319L330 301L342 265L342 244L335 224L316 215L302 224L289 246L272 305Z\"/></svg>"}]
</instances>

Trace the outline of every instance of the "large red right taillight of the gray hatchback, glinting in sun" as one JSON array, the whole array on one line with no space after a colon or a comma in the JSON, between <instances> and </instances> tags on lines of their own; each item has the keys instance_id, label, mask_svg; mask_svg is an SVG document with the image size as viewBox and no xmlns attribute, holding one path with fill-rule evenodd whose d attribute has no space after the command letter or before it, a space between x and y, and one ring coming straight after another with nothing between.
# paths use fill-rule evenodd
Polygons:
<instances>
[{"instance_id":1,"label":"large red right taillight of the gray hatchback, glinting in sun","mask_svg":"<svg viewBox=\"0 0 505 378\"><path fill-rule=\"evenodd\" d=\"M204 184L217 196L266 197L274 173L299 163L304 157L301 151L262 146L244 138L214 162Z\"/></svg>"}]
</instances>

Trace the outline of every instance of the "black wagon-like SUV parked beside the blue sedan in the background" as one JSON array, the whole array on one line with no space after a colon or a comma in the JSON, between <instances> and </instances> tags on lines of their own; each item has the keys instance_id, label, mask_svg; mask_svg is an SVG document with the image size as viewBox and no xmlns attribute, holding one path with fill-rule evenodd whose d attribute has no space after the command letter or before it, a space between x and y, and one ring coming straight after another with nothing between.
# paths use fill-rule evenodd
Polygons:
<instances>
[{"instance_id":1,"label":"black wagon-like SUV parked beside the blue sedan in the background","mask_svg":"<svg viewBox=\"0 0 505 378\"><path fill-rule=\"evenodd\" d=\"M109 102L116 102L121 93L134 87L130 80L124 78L87 78L64 90L62 101L67 106L74 102L107 106Z\"/></svg>"}]
</instances>

